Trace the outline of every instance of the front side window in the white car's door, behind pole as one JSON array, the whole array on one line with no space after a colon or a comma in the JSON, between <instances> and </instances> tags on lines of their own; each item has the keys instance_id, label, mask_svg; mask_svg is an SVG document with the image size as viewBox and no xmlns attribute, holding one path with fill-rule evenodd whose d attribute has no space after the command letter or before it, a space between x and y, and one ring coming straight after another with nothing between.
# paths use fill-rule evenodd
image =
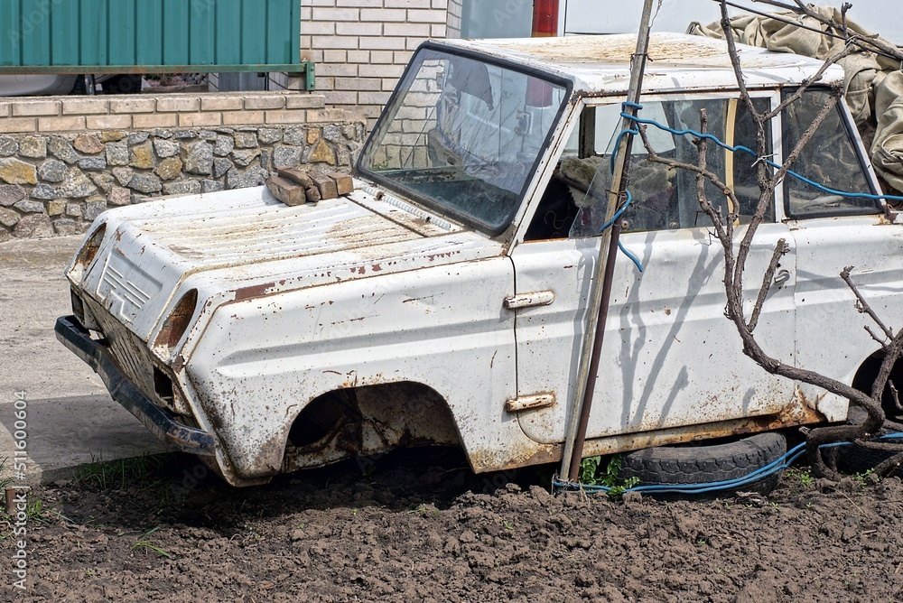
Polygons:
<instances>
[{"instance_id":1,"label":"front side window in the white car's door, behind pole","mask_svg":"<svg viewBox=\"0 0 903 603\"><path fill-rule=\"evenodd\" d=\"M760 110L768 108L767 98L757 98ZM755 130L746 107L736 98L643 101L639 116L673 130L700 129L701 110L708 116L708 132L729 145L755 146ZM611 153L620 131L620 105L585 107L581 123L567 144L527 230L526 240L561 237L593 237L604 222L606 191L610 189ZM699 162L692 135L675 135L653 125L647 137L655 152L677 162ZM770 153L770 132L768 147ZM731 153L710 143L707 167L731 190L739 201L740 222L748 221L759 200L757 168L749 153ZM624 214L627 231L669 230L711 226L699 206L693 172L675 170L649 160L649 153L637 138L628 169L628 186L633 202ZM727 196L712 183L706 184L712 204L727 215ZM774 209L766 218L774 220Z\"/></svg>"}]
</instances>

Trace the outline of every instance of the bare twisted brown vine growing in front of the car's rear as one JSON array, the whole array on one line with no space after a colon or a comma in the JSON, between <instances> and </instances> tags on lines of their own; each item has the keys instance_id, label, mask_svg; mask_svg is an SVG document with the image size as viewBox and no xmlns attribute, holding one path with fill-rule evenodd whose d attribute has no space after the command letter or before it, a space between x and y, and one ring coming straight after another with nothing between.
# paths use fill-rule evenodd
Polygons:
<instances>
[{"instance_id":1,"label":"bare twisted brown vine growing in front of the car's rear","mask_svg":"<svg viewBox=\"0 0 903 603\"><path fill-rule=\"evenodd\" d=\"M769 2L768 4L774 3ZM731 31L731 21L727 14L727 5L725 0L721 0L720 5L721 28L724 32L725 41L728 45L731 65L733 66L733 70L740 87L740 97L747 107L749 116L752 117L753 124L755 125L757 145L756 151L759 157L765 157L768 155L768 139L766 135L766 125L768 124L768 121L777 116L780 111L783 111L792 102L796 102L796 100L802 97L807 88L809 88L812 84L822 78L825 70L827 70L828 67L833 65L833 63L835 63L836 61L841 60L852 51L852 46L850 44L847 44L842 51L835 53L828 60L825 60L822 67L818 70L816 76L811 79L805 80L799 87L799 89L796 90L796 93L787 98L785 102L781 103L779 107L772 111L759 113L752 102L752 97L750 97L746 83L743 79L742 66L740 65L740 55L737 52L736 40L734 39L733 32ZM803 9L805 9L805 6L801 5L800 10ZM856 445L871 450L892 450L898 452L898 454L880 463L880 465L875 468L876 472L878 472L879 474L891 468L896 468L900 466L901 462L903 462L903 446L899 444L871 441L872 436L879 433L882 426L885 425L885 416L880 402L881 395L883 394L886 385L889 383L891 369L897 362L898 357L900 357L901 353L903 353L903 329L898 331L898 333L895 335L878 319L877 315L873 311L870 311L868 303L865 302L859 290L852 283L852 280L850 280L849 270L845 270L844 273L846 274L846 276L844 277L843 274L841 276L843 280L848 284L848 286L850 286L854 296L857 298L857 307L861 309L868 309L868 311L866 312L869 313L872 320L875 320L875 322L879 325L881 331L883 331L885 334L885 339L882 339L882 348L885 351L885 357L881 363L879 374L876 377L874 384L872 385L870 394L866 394L857 389L854 389L851 385L846 385L842 381L838 381L829 376L824 376L814 371L787 365L777 358L768 356L765 350L763 350L759 346L759 342L753 335L753 330L756 328L759 321L759 312L761 311L761 306L762 304L764 304L765 298L768 294L768 287L771 283L771 275L773 274L774 269L777 268L777 263L780 260L780 257L787 253L787 249L785 247L786 242L783 239L777 243L777 246L773 252L771 264L769 264L768 271L766 272L766 274L764 274L763 284L761 289L759 290L759 296L756 304L753 307L752 316L749 320L746 319L746 313L744 310L743 275L746 271L746 263L749 257L749 251L752 246L753 237L755 237L759 225L761 225L762 221L765 219L768 209L774 203L775 189L787 176L787 171L790 169L793 163L796 162L796 159L799 157L800 153L802 153L805 145L808 144L812 137L815 135L815 132L822 125L824 119L834 110L834 107L839 101L841 95L842 91L840 90L840 88L834 87L832 94L825 102L824 107L822 107L818 115L815 116L813 123L805 129L805 133L800 137L799 141L790 151L790 153L787 154L787 157L785 157L783 164L780 165L777 170L772 171L772 168L766 162L758 162L757 180L759 184L759 201L756 206L755 212L753 213L752 219L749 222L746 233L740 240L740 246L736 252L736 255L734 253L734 221L736 216L732 214L727 217L721 216L721 212L718 209L715 209L712 205L712 202L707 198L705 192L705 181L712 182L714 186L723 191L723 193L731 201L731 205L729 205L729 207L739 208L740 203L730 187L728 187L723 181L721 181L718 178L717 174L707 168L707 139L703 136L699 139L694 140L694 144L696 145L699 153L698 163L694 165L687 162L676 162L674 160L659 156L652 148L652 145L649 143L645 127L639 128L640 137L643 141L644 146L646 147L648 154L648 161L665 164L675 169L686 170L689 172L694 172L696 174L696 189L699 197L700 207L703 209L703 212L712 220L712 227L714 229L715 237L721 242L721 247L724 255L724 288L727 295L725 316L734 323L738 332L740 333L740 339L743 342L743 353L753 359L756 363L759 364L759 366L762 366L771 374L784 376L797 382L815 385L832 394L846 398L852 404L861 406L866 411L867 417L861 424L819 427L809 431L807 434L806 453L810 464L814 468L816 474L833 479L839 479L841 478L841 475L837 473L835 469L829 468L827 466L827 464L824 462L824 458L819 448L822 444L828 442L851 441ZM705 115L704 109L700 112L700 124L702 133L706 134L708 119ZM871 333L871 335L872 337L875 337L874 333ZM878 338L876 337L876 339ZM886 339L889 339L889 342L884 343Z\"/></svg>"}]
</instances>

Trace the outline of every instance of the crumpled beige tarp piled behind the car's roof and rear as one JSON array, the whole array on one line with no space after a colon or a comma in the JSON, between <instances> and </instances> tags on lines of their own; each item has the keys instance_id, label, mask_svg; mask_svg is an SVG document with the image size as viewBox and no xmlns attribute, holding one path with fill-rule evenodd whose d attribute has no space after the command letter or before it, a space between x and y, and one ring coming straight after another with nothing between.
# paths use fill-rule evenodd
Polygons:
<instances>
[{"instance_id":1,"label":"crumpled beige tarp piled behind the car's roof and rear","mask_svg":"<svg viewBox=\"0 0 903 603\"><path fill-rule=\"evenodd\" d=\"M809 8L825 19L842 23L842 14L838 8L814 5L809 5ZM736 16L731 18L731 30L737 42L814 59L825 60L842 50L843 40L786 22L800 23L821 32L841 35L839 29L825 25L813 17L795 13L778 13L776 16L781 20L757 15ZM846 24L852 34L880 39L849 19ZM709 38L724 38L719 22L710 25L690 23L687 32ZM880 40L890 47L894 46L887 40ZM838 64L844 71L843 93L847 105L866 144L869 144L868 139L874 128L870 153L876 172L890 186L903 190L903 71L900 70L900 61L855 48Z\"/></svg>"}]
</instances>

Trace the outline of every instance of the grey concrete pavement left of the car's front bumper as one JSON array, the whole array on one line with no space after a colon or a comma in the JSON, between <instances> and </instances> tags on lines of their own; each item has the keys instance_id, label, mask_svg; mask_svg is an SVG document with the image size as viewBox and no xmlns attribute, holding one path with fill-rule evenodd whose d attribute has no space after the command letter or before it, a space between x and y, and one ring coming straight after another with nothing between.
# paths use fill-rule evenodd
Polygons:
<instances>
[{"instance_id":1,"label":"grey concrete pavement left of the car's front bumper","mask_svg":"<svg viewBox=\"0 0 903 603\"><path fill-rule=\"evenodd\" d=\"M53 333L57 317L71 313L63 271L80 242L57 237L0 244L0 461L6 459L0 478L13 474L14 435L21 427L14 413L23 402L29 484L71 477L79 465L98 459L167 450Z\"/></svg>"}]
</instances>

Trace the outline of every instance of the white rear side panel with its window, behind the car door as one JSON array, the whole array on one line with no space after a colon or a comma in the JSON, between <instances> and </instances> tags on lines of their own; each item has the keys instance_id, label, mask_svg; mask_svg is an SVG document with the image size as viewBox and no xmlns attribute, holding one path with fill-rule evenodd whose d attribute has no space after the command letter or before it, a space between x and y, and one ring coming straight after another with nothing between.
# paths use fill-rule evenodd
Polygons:
<instances>
[{"instance_id":1,"label":"white rear side panel with its window, behind the car door","mask_svg":"<svg viewBox=\"0 0 903 603\"><path fill-rule=\"evenodd\" d=\"M787 108L785 153L828 97L827 89L810 89ZM855 133L852 116L839 104L804 147L794 171L831 190L867 195L876 192L878 182L866 168L865 150ZM787 216L797 245L797 366L852 385L862 363L880 348L865 328L876 334L880 329L867 314L857 311L853 293L840 274L849 267L852 282L871 309L891 328L898 328L903 295L903 261L899 259L903 257L903 227L881 215L880 202L873 197L842 196L792 177L784 186ZM869 387L870 383L861 385ZM845 399L813 385L801 388L830 420L845 418ZM895 404L885 410L895 421L903 419Z\"/></svg>"}]
</instances>

